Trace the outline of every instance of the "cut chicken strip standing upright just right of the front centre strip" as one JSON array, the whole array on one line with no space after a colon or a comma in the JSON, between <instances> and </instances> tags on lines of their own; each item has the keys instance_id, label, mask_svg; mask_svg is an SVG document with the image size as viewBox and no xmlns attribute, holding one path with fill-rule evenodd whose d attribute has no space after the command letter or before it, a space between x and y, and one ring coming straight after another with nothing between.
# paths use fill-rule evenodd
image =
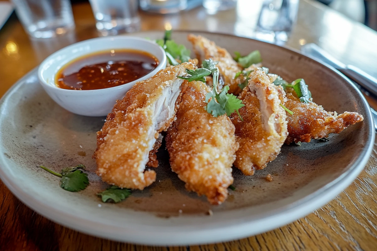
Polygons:
<instances>
[{"instance_id":1,"label":"cut chicken strip standing upright just right of the front centre strip","mask_svg":"<svg viewBox=\"0 0 377 251\"><path fill-rule=\"evenodd\" d=\"M277 157L288 132L279 94L264 71L251 73L248 89L242 101L245 106L238 110L244 121L237 113L232 113L230 119L239 142L234 166L245 175L253 175L254 170L263 169Z\"/></svg>"}]
</instances>

